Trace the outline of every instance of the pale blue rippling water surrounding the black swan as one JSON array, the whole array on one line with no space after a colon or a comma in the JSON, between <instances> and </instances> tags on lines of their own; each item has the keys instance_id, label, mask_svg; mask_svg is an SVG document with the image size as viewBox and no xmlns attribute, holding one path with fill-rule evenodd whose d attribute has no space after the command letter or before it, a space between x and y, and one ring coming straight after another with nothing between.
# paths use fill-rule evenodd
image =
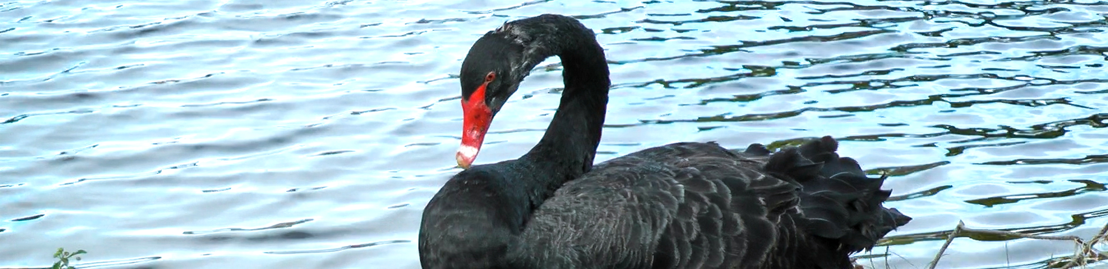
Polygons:
<instances>
[{"instance_id":1,"label":"pale blue rippling water surrounding the black swan","mask_svg":"<svg viewBox=\"0 0 1108 269\"><path fill-rule=\"evenodd\" d=\"M1108 2L16 0L0 3L0 267L419 268L456 173L456 73L500 23L576 15L614 90L597 161L678 141L833 135L915 217L874 268L968 227L1108 223ZM556 59L478 163L522 155ZM940 268L1073 244L954 241ZM874 257L868 259L866 257Z\"/></svg>"}]
</instances>

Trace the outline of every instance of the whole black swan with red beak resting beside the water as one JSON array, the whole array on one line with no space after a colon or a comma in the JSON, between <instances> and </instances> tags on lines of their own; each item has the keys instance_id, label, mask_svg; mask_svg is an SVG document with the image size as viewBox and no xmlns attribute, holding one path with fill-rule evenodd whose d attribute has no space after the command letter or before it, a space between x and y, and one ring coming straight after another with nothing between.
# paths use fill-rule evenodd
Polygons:
<instances>
[{"instance_id":1,"label":"whole black swan with red beak resting beside the water","mask_svg":"<svg viewBox=\"0 0 1108 269\"><path fill-rule=\"evenodd\" d=\"M519 159L470 164L492 118L548 56L565 90L542 139ZM462 63L464 126L454 175L423 210L424 269L851 268L849 255L911 220L881 204L830 136L771 153L676 143L593 166L608 68L576 19L504 23Z\"/></svg>"}]
</instances>

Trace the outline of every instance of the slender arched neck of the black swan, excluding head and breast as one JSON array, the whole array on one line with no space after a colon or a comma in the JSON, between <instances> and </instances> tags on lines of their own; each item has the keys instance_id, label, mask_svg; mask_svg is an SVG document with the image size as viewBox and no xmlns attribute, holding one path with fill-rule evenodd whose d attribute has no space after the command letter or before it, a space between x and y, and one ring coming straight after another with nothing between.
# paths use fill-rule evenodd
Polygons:
<instances>
[{"instance_id":1,"label":"slender arched neck of the black swan, excluding head and breast","mask_svg":"<svg viewBox=\"0 0 1108 269\"><path fill-rule=\"evenodd\" d=\"M566 17L540 15L506 24L505 31L527 40L524 62L530 71L546 58L562 59L562 102L543 138L521 159L552 164L560 174L573 179L593 167L601 143L608 103L607 60L592 30Z\"/></svg>"}]
</instances>

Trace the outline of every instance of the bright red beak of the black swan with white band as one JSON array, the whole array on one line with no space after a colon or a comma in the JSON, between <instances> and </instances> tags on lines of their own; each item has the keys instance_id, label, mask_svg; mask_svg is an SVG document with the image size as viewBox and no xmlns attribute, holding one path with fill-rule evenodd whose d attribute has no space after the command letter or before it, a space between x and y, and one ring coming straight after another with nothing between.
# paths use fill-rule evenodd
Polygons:
<instances>
[{"instance_id":1,"label":"bright red beak of the black swan with white band","mask_svg":"<svg viewBox=\"0 0 1108 269\"><path fill-rule=\"evenodd\" d=\"M458 148L454 158L458 159L458 165L464 169L469 169L473 159L478 158L481 143L484 142L484 135L489 132L489 125L492 124L492 110L484 102L484 92L488 85L486 81L476 91L473 91L469 99L462 99L462 113L465 114L464 120L462 120L462 146Z\"/></svg>"}]
</instances>

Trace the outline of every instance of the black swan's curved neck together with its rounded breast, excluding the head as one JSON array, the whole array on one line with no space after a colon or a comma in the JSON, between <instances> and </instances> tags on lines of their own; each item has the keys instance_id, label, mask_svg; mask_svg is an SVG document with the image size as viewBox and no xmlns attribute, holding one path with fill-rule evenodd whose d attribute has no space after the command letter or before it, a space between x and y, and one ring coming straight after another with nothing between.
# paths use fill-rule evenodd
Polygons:
<instances>
[{"instance_id":1,"label":"black swan's curved neck together with its rounded breast, excluding the head","mask_svg":"<svg viewBox=\"0 0 1108 269\"><path fill-rule=\"evenodd\" d=\"M517 268L504 265L535 208L593 166L607 108L607 61L592 30L568 17L544 14L505 23L496 38L520 49L520 82L546 58L562 59L565 90L546 134L519 159L473 166L435 194L420 224L423 268ZM516 52L516 51L512 51ZM497 59L500 60L500 59ZM513 89L514 91L514 89ZM513 242L514 241L514 242Z\"/></svg>"}]
</instances>

